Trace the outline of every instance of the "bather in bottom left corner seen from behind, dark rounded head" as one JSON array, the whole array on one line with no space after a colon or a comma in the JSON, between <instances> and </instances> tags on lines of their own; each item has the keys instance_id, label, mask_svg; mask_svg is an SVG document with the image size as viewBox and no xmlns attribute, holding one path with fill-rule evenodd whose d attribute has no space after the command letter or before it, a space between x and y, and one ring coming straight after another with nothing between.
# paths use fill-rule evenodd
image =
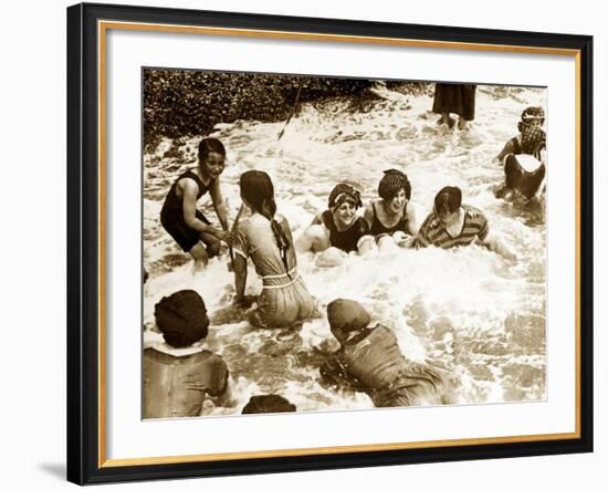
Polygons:
<instances>
[{"instance_id":1,"label":"bather in bottom left corner seen from behind, dark rounded head","mask_svg":"<svg viewBox=\"0 0 608 489\"><path fill-rule=\"evenodd\" d=\"M220 355L206 350L209 319L193 290L180 290L155 306L165 342L144 350L144 418L200 416L203 403L227 406L229 373Z\"/></svg>"}]
</instances>

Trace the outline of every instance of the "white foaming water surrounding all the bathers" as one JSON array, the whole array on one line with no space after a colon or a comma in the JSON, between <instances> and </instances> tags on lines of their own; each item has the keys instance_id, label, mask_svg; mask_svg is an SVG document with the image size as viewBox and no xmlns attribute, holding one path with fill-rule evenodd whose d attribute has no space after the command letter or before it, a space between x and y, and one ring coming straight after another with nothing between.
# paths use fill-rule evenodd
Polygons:
<instances>
[{"instance_id":1,"label":"white foaming water surrounding all the bathers","mask_svg":"<svg viewBox=\"0 0 608 489\"><path fill-rule=\"evenodd\" d=\"M408 357L443 370L454 382L457 403L541 400L546 395L546 229L544 206L526 208L496 199L503 181L493 163L517 133L521 112L546 106L543 89L478 86L475 121L470 131L450 131L430 112L432 97L403 95L381 83L378 101L305 104L284 123L238 121L212 134L227 147L222 194L230 218L241 205L239 175L268 171L279 212L297 237L326 208L333 186L347 181L364 201L377 197L382 170L399 168L412 185L419 225L445 185L463 190L463 202L481 209L492 235L517 254L510 264L485 248L398 250L360 258L352 254L337 268L317 268L312 253L298 256L298 269L325 306L336 298L360 301L373 321L395 331ZM163 200L177 175L197 164L200 137L165 139L144 155L144 345L161 342L154 326L154 305L164 295L195 289L211 318L206 347L222 355L235 398L231 407L206 405L205 415L240 413L254 394L280 394L304 410L373 407L367 395L319 382L318 365L337 350L323 318L290 331L261 331L230 306L233 275L228 257L210 261L195 274L185 254L159 222ZM217 222L208 196L199 208ZM248 293L261 282L250 266Z\"/></svg>"}]
</instances>

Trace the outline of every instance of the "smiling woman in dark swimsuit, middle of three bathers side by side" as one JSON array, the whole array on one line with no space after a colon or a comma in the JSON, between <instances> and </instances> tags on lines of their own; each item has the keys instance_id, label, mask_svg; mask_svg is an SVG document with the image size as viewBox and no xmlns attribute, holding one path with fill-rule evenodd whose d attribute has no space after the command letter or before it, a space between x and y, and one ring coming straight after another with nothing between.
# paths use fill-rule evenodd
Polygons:
<instances>
[{"instance_id":1,"label":"smiling woman in dark swimsuit, middle of three bathers side by side","mask_svg":"<svg viewBox=\"0 0 608 489\"><path fill-rule=\"evenodd\" d=\"M380 198L369 202L364 211L370 237L375 238L380 250L396 245L411 248L418 228L407 175L398 169L385 170L378 184L378 195ZM369 246L369 241L361 240L360 246Z\"/></svg>"}]
</instances>

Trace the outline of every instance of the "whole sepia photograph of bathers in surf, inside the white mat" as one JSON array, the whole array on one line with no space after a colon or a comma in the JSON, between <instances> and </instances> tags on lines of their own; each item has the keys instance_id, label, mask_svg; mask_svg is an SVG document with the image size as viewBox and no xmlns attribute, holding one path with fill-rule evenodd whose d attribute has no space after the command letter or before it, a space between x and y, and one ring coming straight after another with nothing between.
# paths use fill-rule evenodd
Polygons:
<instances>
[{"instance_id":1,"label":"whole sepia photograph of bathers in surf, inside the white mat","mask_svg":"<svg viewBox=\"0 0 608 489\"><path fill-rule=\"evenodd\" d=\"M546 400L545 86L143 67L141 108L144 419Z\"/></svg>"}]
</instances>

